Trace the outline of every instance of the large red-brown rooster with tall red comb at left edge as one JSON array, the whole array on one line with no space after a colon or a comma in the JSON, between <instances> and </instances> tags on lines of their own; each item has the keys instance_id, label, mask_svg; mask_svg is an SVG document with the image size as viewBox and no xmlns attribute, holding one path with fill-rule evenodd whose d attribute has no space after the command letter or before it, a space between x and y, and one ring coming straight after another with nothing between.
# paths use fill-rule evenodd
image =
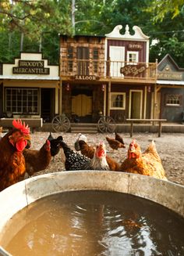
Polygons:
<instances>
[{"instance_id":1,"label":"large red-brown rooster with tall red comb at left edge","mask_svg":"<svg viewBox=\"0 0 184 256\"><path fill-rule=\"evenodd\" d=\"M19 182L26 171L23 150L30 140L30 128L20 120L13 120L12 125L12 131L0 140L0 191Z\"/></svg>"}]
</instances>

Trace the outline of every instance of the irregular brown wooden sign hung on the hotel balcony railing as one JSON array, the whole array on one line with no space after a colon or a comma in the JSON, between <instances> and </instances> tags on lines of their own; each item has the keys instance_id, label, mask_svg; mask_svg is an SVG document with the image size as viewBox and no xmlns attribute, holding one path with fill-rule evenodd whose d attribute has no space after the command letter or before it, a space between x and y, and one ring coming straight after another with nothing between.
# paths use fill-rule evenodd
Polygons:
<instances>
[{"instance_id":1,"label":"irregular brown wooden sign hung on the hotel balcony railing","mask_svg":"<svg viewBox=\"0 0 184 256\"><path fill-rule=\"evenodd\" d=\"M124 76L135 77L138 74L143 73L147 67L143 64L139 65L126 65L125 67L120 68L120 73L124 74Z\"/></svg>"}]
</instances>

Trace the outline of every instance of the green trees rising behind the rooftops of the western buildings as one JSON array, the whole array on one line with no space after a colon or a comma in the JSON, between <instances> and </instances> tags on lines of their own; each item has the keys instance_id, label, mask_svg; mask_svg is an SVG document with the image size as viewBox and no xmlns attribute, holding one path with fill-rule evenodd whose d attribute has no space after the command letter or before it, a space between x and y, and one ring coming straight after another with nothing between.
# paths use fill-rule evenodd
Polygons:
<instances>
[{"instance_id":1,"label":"green trees rising behind the rooftops of the western buildings","mask_svg":"<svg viewBox=\"0 0 184 256\"><path fill-rule=\"evenodd\" d=\"M139 26L151 41L150 62L169 53L184 67L184 0L76 0L75 31L72 27L72 0L0 0L0 62L19 56L21 34L23 51L40 47L50 63L59 63L58 34L104 35L121 24L130 32Z\"/></svg>"}]
</instances>

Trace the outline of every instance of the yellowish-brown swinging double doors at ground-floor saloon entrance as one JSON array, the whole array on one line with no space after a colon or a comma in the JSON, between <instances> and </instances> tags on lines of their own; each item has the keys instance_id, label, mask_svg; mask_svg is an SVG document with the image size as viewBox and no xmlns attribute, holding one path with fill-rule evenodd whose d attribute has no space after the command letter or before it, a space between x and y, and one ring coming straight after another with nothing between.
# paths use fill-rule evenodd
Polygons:
<instances>
[{"instance_id":1,"label":"yellowish-brown swinging double doors at ground-floor saloon entrance","mask_svg":"<svg viewBox=\"0 0 184 256\"><path fill-rule=\"evenodd\" d=\"M92 114L92 97L84 94L73 96L72 112L79 117L85 117Z\"/></svg>"}]
</instances>

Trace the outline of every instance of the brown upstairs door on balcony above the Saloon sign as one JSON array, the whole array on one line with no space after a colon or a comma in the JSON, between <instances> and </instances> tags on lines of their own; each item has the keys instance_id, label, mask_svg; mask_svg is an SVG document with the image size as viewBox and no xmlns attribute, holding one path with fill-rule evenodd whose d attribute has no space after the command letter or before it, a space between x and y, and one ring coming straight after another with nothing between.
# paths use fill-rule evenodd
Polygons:
<instances>
[{"instance_id":1,"label":"brown upstairs door on balcony above the Saloon sign","mask_svg":"<svg viewBox=\"0 0 184 256\"><path fill-rule=\"evenodd\" d=\"M87 59L90 59L90 51L87 47L77 48L77 72L78 75L89 75L90 63Z\"/></svg>"}]
</instances>

